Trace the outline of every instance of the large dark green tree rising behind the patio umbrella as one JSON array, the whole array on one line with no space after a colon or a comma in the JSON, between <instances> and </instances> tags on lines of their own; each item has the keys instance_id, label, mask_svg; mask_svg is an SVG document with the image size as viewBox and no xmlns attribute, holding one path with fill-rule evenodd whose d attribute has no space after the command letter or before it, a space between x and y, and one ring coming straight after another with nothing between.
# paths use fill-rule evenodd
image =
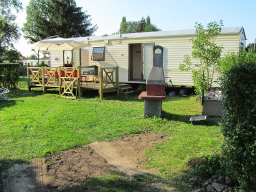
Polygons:
<instances>
[{"instance_id":1,"label":"large dark green tree rising behind the patio umbrella","mask_svg":"<svg viewBox=\"0 0 256 192\"><path fill-rule=\"evenodd\" d=\"M24 38L32 43L53 35L63 38L92 35L97 26L91 26L90 15L81 9L75 0L30 0L21 29Z\"/></svg>"}]
</instances>

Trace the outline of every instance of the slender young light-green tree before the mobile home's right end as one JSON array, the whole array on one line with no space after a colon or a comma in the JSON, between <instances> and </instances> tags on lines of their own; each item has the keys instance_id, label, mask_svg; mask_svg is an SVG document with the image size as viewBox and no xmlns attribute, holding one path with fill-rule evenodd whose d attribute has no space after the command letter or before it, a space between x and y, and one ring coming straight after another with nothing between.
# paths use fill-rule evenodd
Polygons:
<instances>
[{"instance_id":1,"label":"slender young light-green tree before the mobile home's right end","mask_svg":"<svg viewBox=\"0 0 256 192\"><path fill-rule=\"evenodd\" d=\"M195 92L201 90L209 90L212 84L215 67L220 58L222 46L216 45L215 40L221 32L222 20L209 22L207 28L201 23L195 23L196 37L192 39L192 58L197 59L191 61L188 54L184 57L182 63L179 64L180 70L191 70L192 78L195 86Z\"/></svg>"}]
</instances>

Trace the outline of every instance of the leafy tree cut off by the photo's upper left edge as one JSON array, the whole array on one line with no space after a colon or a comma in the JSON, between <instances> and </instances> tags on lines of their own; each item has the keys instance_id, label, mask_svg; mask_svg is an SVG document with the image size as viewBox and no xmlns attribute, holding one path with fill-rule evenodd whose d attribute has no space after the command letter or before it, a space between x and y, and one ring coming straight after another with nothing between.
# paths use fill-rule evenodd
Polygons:
<instances>
[{"instance_id":1,"label":"leafy tree cut off by the photo's upper left edge","mask_svg":"<svg viewBox=\"0 0 256 192\"><path fill-rule=\"evenodd\" d=\"M16 16L11 13L22 9L19 0L0 0L0 57L9 48L13 48L13 41L20 37L19 28L15 23Z\"/></svg>"}]
</instances>

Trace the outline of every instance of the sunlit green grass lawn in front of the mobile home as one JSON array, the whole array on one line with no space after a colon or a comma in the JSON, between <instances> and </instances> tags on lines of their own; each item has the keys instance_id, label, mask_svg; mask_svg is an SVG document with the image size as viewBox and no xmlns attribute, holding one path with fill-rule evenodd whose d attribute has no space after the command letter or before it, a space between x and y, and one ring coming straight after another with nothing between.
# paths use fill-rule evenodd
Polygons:
<instances>
[{"instance_id":1,"label":"sunlit green grass lawn in front of the mobile home","mask_svg":"<svg viewBox=\"0 0 256 192\"><path fill-rule=\"evenodd\" d=\"M0 100L1 170L10 163L24 162L48 152L152 130L171 135L171 139L145 152L147 166L156 167L159 175L129 178L133 181L122 175L106 175L86 184L98 180L111 188L100 191L135 191L134 182L142 187L152 180L161 180L177 188L175 191L188 191L184 180L189 176L187 161L220 150L218 118L208 118L206 125L195 126L189 121L191 116L201 113L201 104L195 102L195 96L167 96L162 103L162 118L144 118L143 100L137 94L106 94L103 100L98 96L74 100L62 98L54 90L42 94L41 90L32 89L28 93L25 79L21 80L21 89L9 92L10 101ZM131 189L127 190L121 183L118 187L107 184L111 179L129 182Z\"/></svg>"}]
</instances>

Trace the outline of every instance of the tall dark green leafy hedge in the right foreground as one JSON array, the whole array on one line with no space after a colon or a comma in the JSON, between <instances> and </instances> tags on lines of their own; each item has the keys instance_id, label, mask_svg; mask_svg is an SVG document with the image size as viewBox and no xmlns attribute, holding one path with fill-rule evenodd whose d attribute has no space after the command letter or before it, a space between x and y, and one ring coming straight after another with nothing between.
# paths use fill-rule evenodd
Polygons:
<instances>
[{"instance_id":1,"label":"tall dark green leafy hedge in the right foreground","mask_svg":"<svg viewBox=\"0 0 256 192\"><path fill-rule=\"evenodd\" d=\"M246 53L229 59L221 78L223 154L242 191L256 188L256 62L243 63ZM240 55L240 56L239 56ZM255 57L254 57L255 58ZM237 63L239 61L239 63Z\"/></svg>"}]
</instances>

